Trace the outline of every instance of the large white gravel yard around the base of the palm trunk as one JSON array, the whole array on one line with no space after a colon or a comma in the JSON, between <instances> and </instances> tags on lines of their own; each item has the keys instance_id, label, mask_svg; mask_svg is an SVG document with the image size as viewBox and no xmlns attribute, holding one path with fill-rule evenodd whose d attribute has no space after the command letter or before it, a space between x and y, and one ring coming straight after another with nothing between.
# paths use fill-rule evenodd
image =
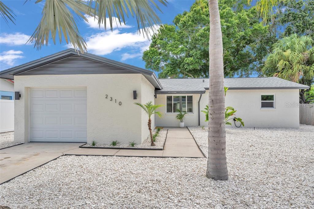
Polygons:
<instances>
[{"instance_id":1,"label":"large white gravel yard around the base of the palm trunk","mask_svg":"<svg viewBox=\"0 0 314 209\"><path fill-rule=\"evenodd\" d=\"M207 133L189 127L207 154ZM227 129L229 180L206 158L62 156L0 185L11 208L310 208L314 126Z\"/></svg>"}]
</instances>

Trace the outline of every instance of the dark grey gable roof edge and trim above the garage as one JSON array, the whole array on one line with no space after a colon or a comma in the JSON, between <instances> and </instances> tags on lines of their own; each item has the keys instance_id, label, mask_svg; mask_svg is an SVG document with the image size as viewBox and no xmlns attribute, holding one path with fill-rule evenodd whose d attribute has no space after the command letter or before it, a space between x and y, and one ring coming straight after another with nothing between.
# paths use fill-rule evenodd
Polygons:
<instances>
[{"instance_id":1,"label":"dark grey gable roof edge and trim above the garage","mask_svg":"<svg viewBox=\"0 0 314 209\"><path fill-rule=\"evenodd\" d=\"M128 70L131 71L133 73L141 73L143 74L143 76L157 89L161 89L162 86L158 80L158 78L156 77L155 73L140 67L135 67L132 65L128 65L122 62L117 62L114 60L110 60L101 56L97 56L97 55L93 55L93 54L89 54L89 53L79 53L77 51L75 51L74 49L67 49L64 51L60 51L57 52L55 54L49 55L49 56L45 56L42 57L40 59L31 61L31 62L27 62L25 64L16 66L16 67L12 67L9 68L7 70L1 71L0 72L0 78L5 78L5 79L14 79L14 75L18 75L20 73L25 73L25 72L29 72L35 68L39 68L42 67L44 65L50 64L52 62L56 62L68 57L72 57L72 56L80 56L80 57L84 57L90 60L94 60L100 63L105 63L107 65L111 65L111 66L115 66L117 68L120 68L122 70ZM37 73L39 74L39 73ZM76 74L81 74L81 73L76 73Z\"/></svg>"}]
</instances>

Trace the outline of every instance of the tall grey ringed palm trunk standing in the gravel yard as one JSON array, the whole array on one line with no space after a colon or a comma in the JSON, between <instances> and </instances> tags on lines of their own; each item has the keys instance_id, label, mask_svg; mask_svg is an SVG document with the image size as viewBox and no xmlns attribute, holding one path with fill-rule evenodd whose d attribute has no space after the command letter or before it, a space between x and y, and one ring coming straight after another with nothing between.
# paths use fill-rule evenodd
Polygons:
<instances>
[{"instance_id":1,"label":"tall grey ringed palm trunk standing in the gravel yard","mask_svg":"<svg viewBox=\"0 0 314 209\"><path fill-rule=\"evenodd\" d=\"M209 7L209 102L207 178L227 180L225 91L222 34L218 0Z\"/></svg>"}]
</instances>

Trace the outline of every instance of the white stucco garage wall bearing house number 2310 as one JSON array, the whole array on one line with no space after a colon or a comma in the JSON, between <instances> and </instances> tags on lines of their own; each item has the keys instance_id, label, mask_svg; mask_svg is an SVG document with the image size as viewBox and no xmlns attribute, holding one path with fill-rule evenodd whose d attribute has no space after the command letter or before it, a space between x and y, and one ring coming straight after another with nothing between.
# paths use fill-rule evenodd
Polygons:
<instances>
[{"instance_id":1,"label":"white stucco garage wall bearing house number 2310","mask_svg":"<svg viewBox=\"0 0 314 209\"><path fill-rule=\"evenodd\" d=\"M133 103L142 102L142 99L146 102L154 96L149 96L154 92L153 86L143 84L143 79L142 74L15 76L14 90L20 92L21 98L14 101L14 141L29 141L29 88L87 87L87 142L118 140L120 143L141 143L147 137L147 123L142 122L142 110ZM136 100L133 99L133 90L138 92ZM113 101L106 99L106 94L113 97ZM122 102L121 106L118 101Z\"/></svg>"}]
</instances>

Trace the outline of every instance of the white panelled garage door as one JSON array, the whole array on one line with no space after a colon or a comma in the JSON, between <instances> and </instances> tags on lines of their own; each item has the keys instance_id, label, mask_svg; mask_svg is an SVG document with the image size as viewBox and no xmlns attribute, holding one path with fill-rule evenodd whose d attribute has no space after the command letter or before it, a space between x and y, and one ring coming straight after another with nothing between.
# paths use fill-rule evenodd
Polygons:
<instances>
[{"instance_id":1,"label":"white panelled garage door","mask_svg":"<svg viewBox=\"0 0 314 209\"><path fill-rule=\"evenodd\" d=\"M31 142L86 142L86 88L30 88Z\"/></svg>"}]
</instances>

